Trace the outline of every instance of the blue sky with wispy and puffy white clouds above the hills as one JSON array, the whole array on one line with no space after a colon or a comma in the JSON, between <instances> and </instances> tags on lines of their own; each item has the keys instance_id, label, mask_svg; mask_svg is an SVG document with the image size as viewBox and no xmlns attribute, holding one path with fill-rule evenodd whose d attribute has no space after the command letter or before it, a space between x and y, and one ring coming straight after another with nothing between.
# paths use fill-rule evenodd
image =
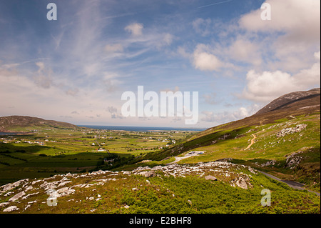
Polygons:
<instances>
[{"instance_id":1,"label":"blue sky with wispy and puffy white clouds above the hills","mask_svg":"<svg viewBox=\"0 0 321 228\"><path fill-rule=\"evenodd\" d=\"M198 122L124 117L138 86L198 91ZM320 0L0 1L0 117L206 128L316 87Z\"/></svg>"}]
</instances>

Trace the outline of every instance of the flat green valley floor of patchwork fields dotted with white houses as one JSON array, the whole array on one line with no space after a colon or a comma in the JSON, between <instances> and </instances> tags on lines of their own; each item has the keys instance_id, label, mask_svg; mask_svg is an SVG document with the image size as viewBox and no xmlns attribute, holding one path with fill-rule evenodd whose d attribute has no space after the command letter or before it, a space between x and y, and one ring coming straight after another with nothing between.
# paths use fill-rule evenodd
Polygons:
<instances>
[{"instance_id":1,"label":"flat green valley floor of patchwork fields dotted with white houses","mask_svg":"<svg viewBox=\"0 0 321 228\"><path fill-rule=\"evenodd\" d=\"M190 134L39 127L29 134L0 136L0 184L67 172L115 169Z\"/></svg>"}]
</instances>

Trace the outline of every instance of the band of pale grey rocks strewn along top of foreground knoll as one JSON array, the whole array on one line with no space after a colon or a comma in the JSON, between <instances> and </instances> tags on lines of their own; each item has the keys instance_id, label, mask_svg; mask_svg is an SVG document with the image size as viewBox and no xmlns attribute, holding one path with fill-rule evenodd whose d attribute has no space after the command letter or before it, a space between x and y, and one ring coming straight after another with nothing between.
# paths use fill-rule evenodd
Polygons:
<instances>
[{"instance_id":1,"label":"band of pale grey rocks strewn along top of foreground knoll","mask_svg":"<svg viewBox=\"0 0 321 228\"><path fill-rule=\"evenodd\" d=\"M248 174L245 174L245 172ZM44 179L22 179L0 187L0 199L7 200L1 202L0 210L1 212L24 212L33 207L34 204L46 204L46 201L39 202L39 199L44 199L44 195L47 198L58 198L71 196L77 192L94 191L96 186L127 179L130 175L140 175L145 178L163 178L164 176L185 178L193 176L205 179L208 182L220 180L233 187L248 189L252 187L252 184L250 184L252 176L250 174L258 173L255 169L242 164L216 161L190 165L170 164L153 168L146 166L138 167L133 171L111 172L99 170L85 174L57 174L54 177ZM146 179L146 182L149 183L149 180ZM132 191L138 191L136 187L131 189ZM91 196L88 199L99 201L101 195Z\"/></svg>"}]
</instances>

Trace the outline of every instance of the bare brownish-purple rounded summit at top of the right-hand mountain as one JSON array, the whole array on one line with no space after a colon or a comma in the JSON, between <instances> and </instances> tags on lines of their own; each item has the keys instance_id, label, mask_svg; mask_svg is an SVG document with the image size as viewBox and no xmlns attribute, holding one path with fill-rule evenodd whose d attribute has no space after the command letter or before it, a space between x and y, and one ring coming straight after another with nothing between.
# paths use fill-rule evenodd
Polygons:
<instances>
[{"instance_id":1,"label":"bare brownish-purple rounded summit at top of the right-hand mountain","mask_svg":"<svg viewBox=\"0 0 321 228\"><path fill-rule=\"evenodd\" d=\"M315 97L319 98L320 100L320 88L311 89L309 91L295 91L290 94L280 96L279 98L271 101L269 104L263 107L263 109L260 109L260 111L258 111L256 114L263 114L276 109L282 109L286 106L290 106L290 104L293 104L295 102L298 103L299 101L303 101L302 104L306 107L311 106L311 104L309 103L311 103L311 101ZM301 108L303 108L303 106Z\"/></svg>"}]
</instances>

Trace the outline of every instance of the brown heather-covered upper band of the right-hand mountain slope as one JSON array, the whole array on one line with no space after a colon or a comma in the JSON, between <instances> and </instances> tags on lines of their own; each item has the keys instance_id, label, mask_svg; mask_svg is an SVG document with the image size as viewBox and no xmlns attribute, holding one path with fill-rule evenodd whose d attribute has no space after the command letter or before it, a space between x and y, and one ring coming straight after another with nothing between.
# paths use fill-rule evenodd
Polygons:
<instances>
[{"instance_id":1,"label":"brown heather-covered upper band of the right-hand mountain slope","mask_svg":"<svg viewBox=\"0 0 321 228\"><path fill-rule=\"evenodd\" d=\"M170 151L173 152L173 155L177 155L188 149L213 144L213 141L220 140L220 138L234 139L238 135L243 134L244 131L253 130L264 124L275 124L275 122L280 122L280 119L287 121L295 119L296 116L311 114L320 116L320 89L313 89L313 91L307 91L307 93L294 92L291 94L291 96L280 96L280 98L272 101L270 104L272 104L273 109L270 111L267 111L269 106L267 105L251 117L211 127L193 135L193 137L190 137L185 142L175 145ZM294 94L297 95L294 96ZM305 94L305 96L302 94ZM289 97L292 98L290 99ZM320 120L318 125L320 126ZM227 135L228 132L229 134Z\"/></svg>"}]
</instances>

